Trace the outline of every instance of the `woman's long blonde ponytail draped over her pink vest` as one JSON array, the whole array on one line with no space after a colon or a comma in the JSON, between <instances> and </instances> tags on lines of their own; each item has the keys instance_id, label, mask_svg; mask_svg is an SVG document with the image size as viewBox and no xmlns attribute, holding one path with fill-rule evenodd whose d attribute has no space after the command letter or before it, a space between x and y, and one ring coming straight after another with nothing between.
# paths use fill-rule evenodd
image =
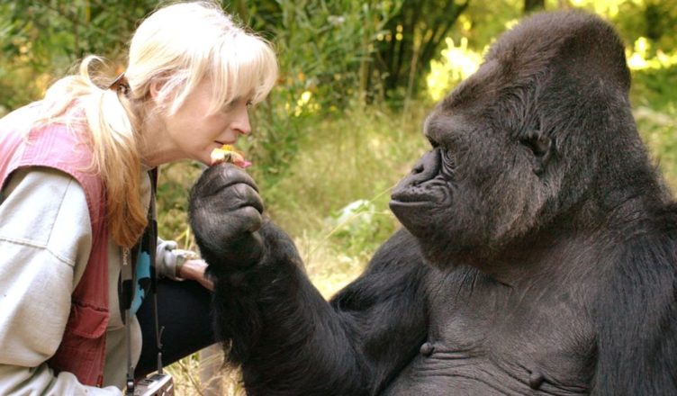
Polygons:
<instances>
[{"instance_id":1,"label":"woman's long blonde ponytail draped over her pink vest","mask_svg":"<svg viewBox=\"0 0 677 396\"><path fill-rule=\"evenodd\" d=\"M60 121L70 130L88 130L93 148L91 171L104 181L111 236L117 245L133 247L148 223L140 196L140 138L134 127L138 122L130 97L95 83L90 76L94 61L102 59L85 58L77 75L50 86L41 123Z\"/></svg>"}]
</instances>

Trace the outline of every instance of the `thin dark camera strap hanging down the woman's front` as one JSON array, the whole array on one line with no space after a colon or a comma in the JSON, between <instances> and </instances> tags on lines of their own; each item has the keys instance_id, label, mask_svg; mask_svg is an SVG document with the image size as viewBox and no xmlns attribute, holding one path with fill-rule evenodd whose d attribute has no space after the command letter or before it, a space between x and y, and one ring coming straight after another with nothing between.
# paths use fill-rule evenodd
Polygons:
<instances>
[{"instance_id":1,"label":"thin dark camera strap hanging down the woman's front","mask_svg":"<svg viewBox=\"0 0 677 396\"><path fill-rule=\"evenodd\" d=\"M123 248L122 249L122 290L121 290L121 300L122 300L122 309L124 311L124 327L125 327L125 338L127 344L127 382L126 382L126 395L134 394L134 365L131 362L131 306L132 300L134 298L135 290L135 277L134 277L134 266L131 265L130 256L134 257L134 260L138 260L139 255L143 253L143 249L149 255L149 272L150 272L150 288L149 293L152 294L153 298L153 320L155 325L155 338L156 346L158 347L158 374L162 374L162 343L160 339L162 337L162 330L164 328L159 327L158 320L158 277L155 271L155 257L156 249L158 245L158 221L156 219L156 206L155 206L155 194L158 183L158 168L153 168L149 171L150 177L150 202L149 202L149 212L148 212L148 226L144 230L143 236L141 237L140 243L133 249ZM138 263L137 263L138 264ZM136 280L138 282L138 280ZM138 308L138 307L137 307Z\"/></svg>"}]
</instances>

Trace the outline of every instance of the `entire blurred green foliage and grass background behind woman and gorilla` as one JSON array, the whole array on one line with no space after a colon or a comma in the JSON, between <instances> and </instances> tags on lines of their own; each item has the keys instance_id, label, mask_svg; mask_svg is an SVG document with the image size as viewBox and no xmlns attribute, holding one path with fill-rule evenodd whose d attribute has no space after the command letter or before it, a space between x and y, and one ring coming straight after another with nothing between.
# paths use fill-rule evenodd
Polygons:
<instances>
[{"instance_id":1,"label":"entire blurred green foliage and grass background behind woman and gorilla","mask_svg":"<svg viewBox=\"0 0 677 396\"><path fill-rule=\"evenodd\" d=\"M164 4L164 3L159 3ZM0 0L0 116L41 98L88 54L125 65L131 33L157 1ZM677 0L233 0L224 8L270 40L281 74L240 139L266 211L294 238L326 297L357 276L399 227L390 189L427 149L427 112L526 14L582 8L627 47L636 122L677 191ZM159 231L194 247L186 197L201 169L163 166ZM218 348L172 365L177 394L237 394ZM223 375L216 373L223 373Z\"/></svg>"}]
</instances>

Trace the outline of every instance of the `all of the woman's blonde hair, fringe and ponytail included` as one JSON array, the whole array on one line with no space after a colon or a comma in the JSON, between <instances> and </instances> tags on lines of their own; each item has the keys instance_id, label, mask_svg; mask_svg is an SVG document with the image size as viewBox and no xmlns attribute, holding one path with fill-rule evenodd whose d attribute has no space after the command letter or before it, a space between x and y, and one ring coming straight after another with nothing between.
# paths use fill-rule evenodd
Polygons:
<instances>
[{"instance_id":1,"label":"all of the woman's blonde hair, fringe and ponytail included","mask_svg":"<svg viewBox=\"0 0 677 396\"><path fill-rule=\"evenodd\" d=\"M113 240L133 247L147 225L140 197L140 126L152 81L160 79L155 111L172 114L203 81L212 80L211 111L250 95L262 101L277 78L275 53L266 40L245 31L210 1L159 8L131 39L124 76L129 91L102 88L90 76L90 56L79 73L66 76L45 94L44 123L86 123L94 146L93 168L106 188ZM109 78L110 81L110 78Z\"/></svg>"}]
</instances>

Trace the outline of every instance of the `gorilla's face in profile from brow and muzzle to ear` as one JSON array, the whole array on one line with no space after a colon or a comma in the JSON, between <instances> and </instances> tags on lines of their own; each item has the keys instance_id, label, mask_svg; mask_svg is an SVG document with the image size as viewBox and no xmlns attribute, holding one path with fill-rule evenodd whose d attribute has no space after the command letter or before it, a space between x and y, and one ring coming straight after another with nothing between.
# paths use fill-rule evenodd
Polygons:
<instances>
[{"instance_id":1,"label":"gorilla's face in profile from brow and muzzle to ear","mask_svg":"<svg viewBox=\"0 0 677 396\"><path fill-rule=\"evenodd\" d=\"M488 61L438 104L424 129L432 148L393 190L394 214L439 265L524 235L556 194L536 91L506 91L505 77Z\"/></svg>"}]
</instances>

